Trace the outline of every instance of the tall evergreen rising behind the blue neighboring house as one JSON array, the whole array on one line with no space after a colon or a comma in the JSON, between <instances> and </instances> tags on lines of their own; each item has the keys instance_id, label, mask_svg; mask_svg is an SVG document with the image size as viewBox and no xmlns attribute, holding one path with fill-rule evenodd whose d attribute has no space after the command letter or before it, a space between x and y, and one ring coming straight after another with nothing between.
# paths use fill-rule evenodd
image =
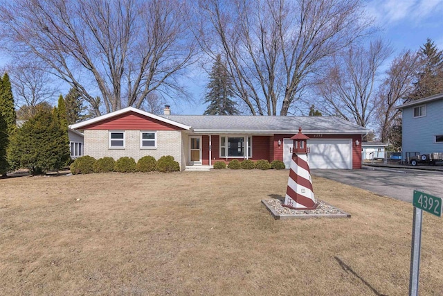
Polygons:
<instances>
[{"instance_id":1,"label":"tall evergreen rising behind the blue neighboring house","mask_svg":"<svg viewBox=\"0 0 443 296\"><path fill-rule=\"evenodd\" d=\"M415 101L443 92L443 51L431 39L420 47L420 70L415 89L407 101Z\"/></svg>"}]
</instances>

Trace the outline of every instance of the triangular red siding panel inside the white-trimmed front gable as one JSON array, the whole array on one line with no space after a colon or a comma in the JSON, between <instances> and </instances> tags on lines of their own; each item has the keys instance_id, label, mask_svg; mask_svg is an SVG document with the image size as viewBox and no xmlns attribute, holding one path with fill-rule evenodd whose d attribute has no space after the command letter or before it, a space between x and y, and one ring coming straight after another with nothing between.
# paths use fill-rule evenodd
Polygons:
<instances>
[{"instance_id":1,"label":"triangular red siding panel inside the white-trimmed front gable","mask_svg":"<svg viewBox=\"0 0 443 296\"><path fill-rule=\"evenodd\" d=\"M169 123L152 119L136 112L127 112L118 116L92 123L84 130L183 130Z\"/></svg>"}]
</instances>

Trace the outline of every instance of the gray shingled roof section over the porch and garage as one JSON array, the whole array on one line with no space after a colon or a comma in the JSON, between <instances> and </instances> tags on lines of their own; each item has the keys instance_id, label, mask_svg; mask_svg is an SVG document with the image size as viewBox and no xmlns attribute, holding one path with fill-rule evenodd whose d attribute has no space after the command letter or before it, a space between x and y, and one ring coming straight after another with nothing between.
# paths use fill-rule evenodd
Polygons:
<instances>
[{"instance_id":1,"label":"gray shingled roof section over the porch and garage","mask_svg":"<svg viewBox=\"0 0 443 296\"><path fill-rule=\"evenodd\" d=\"M334 116L209 116L163 115L190 125L194 132L251 132L258 134L293 134L301 126L305 134L366 134L367 128Z\"/></svg>"}]
</instances>

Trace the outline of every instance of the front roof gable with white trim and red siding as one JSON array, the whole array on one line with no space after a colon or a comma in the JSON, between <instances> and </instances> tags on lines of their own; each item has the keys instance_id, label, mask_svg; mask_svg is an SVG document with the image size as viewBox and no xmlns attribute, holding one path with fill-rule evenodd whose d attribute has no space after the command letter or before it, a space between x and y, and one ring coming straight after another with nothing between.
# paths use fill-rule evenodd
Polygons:
<instances>
[{"instance_id":1,"label":"front roof gable with white trim and red siding","mask_svg":"<svg viewBox=\"0 0 443 296\"><path fill-rule=\"evenodd\" d=\"M129 119L129 121L125 121L122 119ZM147 120L146 120L147 119ZM163 126L165 130L190 130L190 126L178 123L177 121L173 121L171 119L166 119L161 116L157 116L155 114L145 112L142 110L138 110L134 107L126 107L124 109L120 109L102 116L98 116L93 119L89 119L87 121L82 121L80 123L75 123L73 125L69 125L69 128L72 129L118 129L118 126L121 126L121 129L146 129L150 130L151 128L159 128Z\"/></svg>"}]
</instances>

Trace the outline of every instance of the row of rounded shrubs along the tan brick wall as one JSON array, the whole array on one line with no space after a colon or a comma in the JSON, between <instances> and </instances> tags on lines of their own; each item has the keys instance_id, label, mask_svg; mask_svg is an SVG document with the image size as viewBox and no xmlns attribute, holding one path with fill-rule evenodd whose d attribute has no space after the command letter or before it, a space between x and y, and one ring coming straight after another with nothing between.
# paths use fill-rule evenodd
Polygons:
<instances>
[{"instance_id":1,"label":"row of rounded shrubs along the tan brick wall","mask_svg":"<svg viewBox=\"0 0 443 296\"><path fill-rule=\"evenodd\" d=\"M138 162L132 157L120 157L120 159L115 161L112 157L95 159L90 156L82 156L75 159L70 168L73 175L107 172L133 173L159 171L169 173L180 171L179 163L170 155L162 156L158 161L152 156L145 156L138 159Z\"/></svg>"}]
</instances>

